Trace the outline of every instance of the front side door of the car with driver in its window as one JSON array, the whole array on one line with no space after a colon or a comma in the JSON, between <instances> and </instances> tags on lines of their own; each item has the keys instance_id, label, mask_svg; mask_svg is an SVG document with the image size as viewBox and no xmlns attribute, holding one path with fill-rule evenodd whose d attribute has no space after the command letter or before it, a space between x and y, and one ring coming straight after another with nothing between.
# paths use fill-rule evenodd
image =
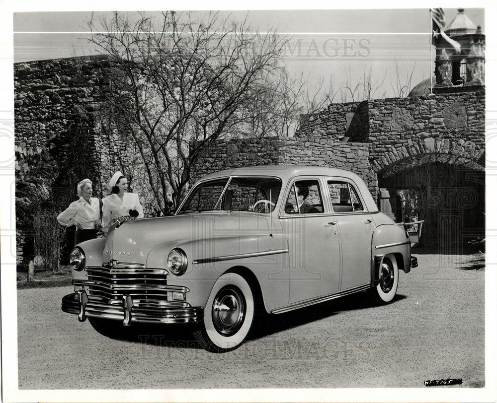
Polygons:
<instances>
[{"instance_id":1,"label":"front side door of the car with driver in its window","mask_svg":"<svg viewBox=\"0 0 497 403\"><path fill-rule=\"evenodd\" d=\"M309 190L305 201L296 197L304 188ZM299 177L286 191L280 219L289 249L290 304L339 290L338 234L324 203L325 189L322 178Z\"/></svg>"}]
</instances>

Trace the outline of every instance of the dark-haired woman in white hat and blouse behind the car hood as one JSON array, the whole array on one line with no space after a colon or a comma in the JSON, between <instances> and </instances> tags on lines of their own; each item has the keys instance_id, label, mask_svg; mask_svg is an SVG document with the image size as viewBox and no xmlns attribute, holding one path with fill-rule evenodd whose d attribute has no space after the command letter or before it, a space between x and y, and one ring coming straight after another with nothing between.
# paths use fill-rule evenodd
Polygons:
<instances>
[{"instance_id":1,"label":"dark-haired woman in white hat and blouse behind the car hood","mask_svg":"<svg viewBox=\"0 0 497 403\"><path fill-rule=\"evenodd\" d=\"M111 195L102 200L103 232L107 234L109 228L119 217L131 215L143 218L143 207L136 193L128 193L128 180L121 172L116 172L110 179Z\"/></svg>"}]
</instances>

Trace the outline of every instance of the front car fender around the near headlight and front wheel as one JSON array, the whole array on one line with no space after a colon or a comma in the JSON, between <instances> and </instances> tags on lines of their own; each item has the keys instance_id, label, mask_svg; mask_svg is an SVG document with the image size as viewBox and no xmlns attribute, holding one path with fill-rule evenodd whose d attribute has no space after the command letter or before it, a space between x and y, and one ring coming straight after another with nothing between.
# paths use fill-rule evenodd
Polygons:
<instances>
[{"instance_id":1,"label":"front car fender around the near headlight and front wheel","mask_svg":"<svg viewBox=\"0 0 497 403\"><path fill-rule=\"evenodd\" d=\"M167 267L167 257L174 248L181 249L188 259L187 269L180 276ZM168 285L187 287L186 301L192 306L205 305L223 273L234 267L249 270L259 283L266 310L270 310L288 303L287 257L286 238L265 232L166 242L150 251L147 267L166 269Z\"/></svg>"}]
</instances>

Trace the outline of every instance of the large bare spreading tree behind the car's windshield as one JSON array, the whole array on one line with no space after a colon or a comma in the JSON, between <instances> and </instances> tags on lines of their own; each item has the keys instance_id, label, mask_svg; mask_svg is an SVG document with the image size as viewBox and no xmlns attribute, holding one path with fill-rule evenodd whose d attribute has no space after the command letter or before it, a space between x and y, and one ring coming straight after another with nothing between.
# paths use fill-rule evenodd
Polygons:
<instances>
[{"instance_id":1,"label":"large bare spreading tree behind the car's windshield","mask_svg":"<svg viewBox=\"0 0 497 403\"><path fill-rule=\"evenodd\" d=\"M171 11L159 19L156 25L144 14L117 12L92 18L89 40L112 59L114 124L136 143L164 210L167 192L180 200L210 143L254 121L254 104L274 90L286 37L250 33L246 21L217 13Z\"/></svg>"}]
</instances>

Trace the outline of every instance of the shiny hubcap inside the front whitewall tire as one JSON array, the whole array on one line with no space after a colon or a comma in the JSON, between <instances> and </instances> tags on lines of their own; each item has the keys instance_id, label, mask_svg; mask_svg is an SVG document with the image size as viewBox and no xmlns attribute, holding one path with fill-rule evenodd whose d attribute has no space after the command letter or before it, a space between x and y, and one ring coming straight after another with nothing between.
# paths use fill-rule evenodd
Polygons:
<instances>
[{"instance_id":1,"label":"shiny hubcap inside the front whitewall tire","mask_svg":"<svg viewBox=\"0 0 497 403\"><path fill-rule=\"evenodd\" d=\"M221 289L212 303L212 322L224 336L233 335L240 330L245 313L245 298L238 287L232 285Z\"/></svg>"}]
</instances>

